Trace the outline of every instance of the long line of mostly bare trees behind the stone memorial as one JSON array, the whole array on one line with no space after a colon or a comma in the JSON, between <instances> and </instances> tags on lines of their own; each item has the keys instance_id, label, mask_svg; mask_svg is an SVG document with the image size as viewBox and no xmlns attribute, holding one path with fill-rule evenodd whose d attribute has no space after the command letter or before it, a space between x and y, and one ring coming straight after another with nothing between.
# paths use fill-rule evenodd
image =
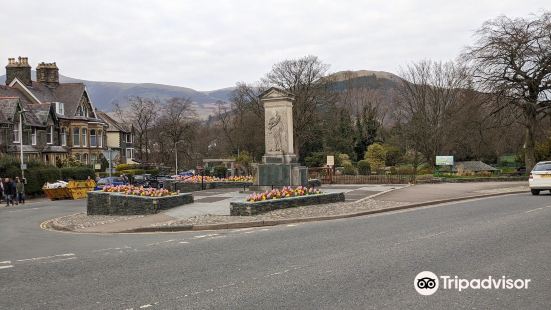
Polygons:
<instances>
[{"instance_id":1,"label":"long line of mostly bare trees behind the stone memorial","mask_svg":"<svg viewBox=\"0 0 551 310\"><path fill-rule=\"evenodd\" d=\"M371 155L413 169L433 167L437 155L496 163L515 154L527 169L550 156L550 12L489 20L457 59L410 63L398 75L392 87L370 87L352 74L329 74L329 64L309 55L274 64L257 82L238 82L206 121L186 98L134 97L117 111L134 127L138 158L170 166L177 151L182 168L203 158L259 161L258 96L272 86L295 95L294 150L309 166L323 165L325 155L341 164L367 160L374 144Z\"/></svg>"}]
</instances>

